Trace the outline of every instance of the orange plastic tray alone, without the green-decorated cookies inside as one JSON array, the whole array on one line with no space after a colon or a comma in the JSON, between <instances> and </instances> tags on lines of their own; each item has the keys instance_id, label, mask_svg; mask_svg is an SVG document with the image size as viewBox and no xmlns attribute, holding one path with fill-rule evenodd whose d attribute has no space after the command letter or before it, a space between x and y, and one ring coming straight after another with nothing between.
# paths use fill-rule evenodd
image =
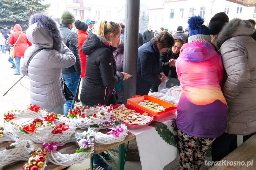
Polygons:
<instances>
[{"instance_id":1,"label":"orange plastic tray alone, without the green-decorated cookies inside","mask_svg":"<svg viewBox=\"0 0 256 170\"><path fill-rule=\"evenodd\" d=\"M166 109L164 111L155 112L155 111L152 111L152 110L138 104L138 103L140 103L144 100L148 100L148 101L151 101L153 103L158 103L158 104L160 104L160 106L163 106ZM152 97L152 96L149 96L149 95L143 95L143 96L135 95L135 96L132 96L132 98L128 98L127 102L136 106L136 107L138 107L138 108L140 108L140 109L142 109L142 110L144 110L144 111L146 111L147 113L154 114L155 119L159 119L159 118L167 116L169 114L174 114L177 110L177 105L169 103L167 101L160 100L158 98L155 98L155 97Z\"/></svg>"}]
</instances>

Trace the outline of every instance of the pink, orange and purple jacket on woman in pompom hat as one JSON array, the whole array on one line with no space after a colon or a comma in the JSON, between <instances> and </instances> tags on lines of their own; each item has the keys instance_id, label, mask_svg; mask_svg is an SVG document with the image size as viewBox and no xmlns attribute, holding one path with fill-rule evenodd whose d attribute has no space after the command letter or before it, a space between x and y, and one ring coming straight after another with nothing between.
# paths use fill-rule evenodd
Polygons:
<instances>
[{"instance_id":1,"label":"pink, orange and purple jacket on woman in pompom hat","mask_svg":"<svg viewBox=\"0 0 256 170\"><path fill-rule=\"evenodd\" d=\"M221 91L223 65L212 44L185 43L176 61L181 96L177 126L182 132L204 138L222 135L227 128L227 103Z\"/></svg>"}]
</instances>

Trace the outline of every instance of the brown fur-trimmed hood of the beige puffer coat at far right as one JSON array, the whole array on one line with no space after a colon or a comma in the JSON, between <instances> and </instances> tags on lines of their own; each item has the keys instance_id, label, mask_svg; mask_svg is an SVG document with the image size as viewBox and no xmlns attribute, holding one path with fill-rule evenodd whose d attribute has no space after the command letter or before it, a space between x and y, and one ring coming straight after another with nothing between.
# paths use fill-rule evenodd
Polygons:
<instances>
[{"instance_id":1,"label":"brown fur-trimmed hood of the beige puffer coat at far right","mask_svg":"<svg viewBox=\"0 0 256 170\"><path fill-rule=\"evenodd\" d=\"M239 35L252 35L254 32L255 27L251 22L234 18L222 28L215 44L220 49L221 45L229 38Z\"/></svg>"}]
</instances>

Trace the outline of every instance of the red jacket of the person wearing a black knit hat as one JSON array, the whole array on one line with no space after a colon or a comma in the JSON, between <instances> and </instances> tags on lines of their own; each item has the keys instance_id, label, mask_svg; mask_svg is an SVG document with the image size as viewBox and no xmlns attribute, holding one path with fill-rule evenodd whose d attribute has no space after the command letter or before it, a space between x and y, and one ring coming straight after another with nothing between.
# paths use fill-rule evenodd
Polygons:
<instances>
[{"instance_id":1,"label":"red jacket of the person wearing a black knit hat","mask_svg":"<svg viewBox=\"0 0 256 170\"><path fill-rule=\"evenodd\" d=\"M88 33L78 30L77 36L78 36L78 48L79 48L79 56L81 59L81 64L82 64L82 73L81 77L85 77L85 63L86 63L86 55L82 53L82 45L85 42L87 38Z\"/></svg>"}]
</instances>

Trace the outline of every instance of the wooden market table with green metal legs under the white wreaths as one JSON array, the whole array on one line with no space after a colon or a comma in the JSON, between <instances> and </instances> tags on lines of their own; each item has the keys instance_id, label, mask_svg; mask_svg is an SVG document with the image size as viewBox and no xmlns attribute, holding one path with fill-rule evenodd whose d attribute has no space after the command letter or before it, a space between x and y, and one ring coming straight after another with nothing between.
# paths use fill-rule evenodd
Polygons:
<instances>
[{"instance_id":1,"label":"wooden market table with green metal legs under the white wreaths","mask_svg":"<svg viewBox=\"0 0 256 170\"><path fill-rule=\"evenodd\" d=\"M81 131L81 129L78 129L78 130ZM128 142L132 139L135 139L135 135L133 135L131 132L128 132L128 135L125 137L125 140L123 140L122 142L112 143L112 144L108 144L108 145L95 143L94 153L98 154L98 153L104 152L106 150L111 150L111 148L114 148L119 145L119 151L114 150L116 152L119 152L118 167L117 167L116 163L115 163L115 166L118 168L118 170L123 170L124 163L125 163L124 143ZM7 145L10 145L11 143L13 143L13 141L2 142L2 143L0 143L0 147L1 148L5 147ZM42 148L42 143L35 143L33 141L29 141L27 147L32 148L32 149ZM72 153L75 153L75 150L77 148L78 148L78 146L71 142L71 143L67 143L64 146L58 146L58 152L72 154ZM93 154L91 154L91 157L92 156L93 156ZM92 161L92 158L91 158L91 161ZM27 161L17 161L17 162L14 162L14 163L4 166L3 170L20 170L20 169L22 169L22 166L25 163L27 163ZM63 168L68 167L68 166L55 165L48 160L46 160L46 164L47 164L47 166L45 167L45 170L61 170ZM91 167L92 167L92 163L91 163Z\"/></svg>"}]
</instances>

